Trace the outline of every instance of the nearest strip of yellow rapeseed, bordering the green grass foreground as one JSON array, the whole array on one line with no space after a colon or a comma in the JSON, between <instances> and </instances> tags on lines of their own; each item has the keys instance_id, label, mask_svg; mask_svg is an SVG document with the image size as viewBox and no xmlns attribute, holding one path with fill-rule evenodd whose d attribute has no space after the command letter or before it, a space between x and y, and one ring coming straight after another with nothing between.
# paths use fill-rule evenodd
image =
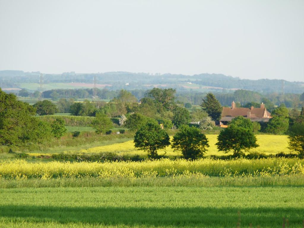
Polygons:
<instances>
[{"instance_id":1,"label":"nearest strip of yellow rapeseed, bordering the green grass foreground","mask_svg":"<svg viewBox=\"0 0 304 228\"><path fill-rule=\"evenodd\" d=\"M37 162L25 160L0 162L0 177L18 178L142 178L178 176L277 176L304 175L304 160L298 158L245 158L219 160L212 158L144 160L141 162Z\"/></svg>"}]
</instances>

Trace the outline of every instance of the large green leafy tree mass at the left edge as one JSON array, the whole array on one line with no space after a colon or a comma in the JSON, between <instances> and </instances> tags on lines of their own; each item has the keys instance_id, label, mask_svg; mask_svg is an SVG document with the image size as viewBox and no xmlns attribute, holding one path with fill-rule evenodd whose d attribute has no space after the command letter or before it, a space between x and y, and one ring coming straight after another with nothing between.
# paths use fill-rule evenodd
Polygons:
<instances>
[{"instance_id":1,"label":"large green leafy tree mass at the left edge","mask_svg":"<svg viewBox=\"0 0 304 228\"><path fill-rule=\"evenodd\" d=\"M25 146L50 138L50 126L36 119L35 109L0 89L0 144Z\"/></svg>"}]
</instances>

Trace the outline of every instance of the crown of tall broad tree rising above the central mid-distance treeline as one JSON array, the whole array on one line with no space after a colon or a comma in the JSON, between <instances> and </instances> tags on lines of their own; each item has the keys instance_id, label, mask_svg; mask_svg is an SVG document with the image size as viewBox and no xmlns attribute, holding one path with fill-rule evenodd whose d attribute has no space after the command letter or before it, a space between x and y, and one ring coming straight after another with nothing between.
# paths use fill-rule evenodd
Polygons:
<instances>
[{"instance_id":1,"label":"crown of tall broad tree rising above the central mid-distance treeline","mask_svg":"<svg viewBox=\"0 0 304 228\"><path fill-rule=\"evenodd\" d=\"M147 93L147 96L153 98L156 102L161 103L161 105L165 109L172 110L175 106L175 102L174 102L175 93L176 90L172 88L168 88L168 89L153 88Z\"/></svg>"}]
</instances>

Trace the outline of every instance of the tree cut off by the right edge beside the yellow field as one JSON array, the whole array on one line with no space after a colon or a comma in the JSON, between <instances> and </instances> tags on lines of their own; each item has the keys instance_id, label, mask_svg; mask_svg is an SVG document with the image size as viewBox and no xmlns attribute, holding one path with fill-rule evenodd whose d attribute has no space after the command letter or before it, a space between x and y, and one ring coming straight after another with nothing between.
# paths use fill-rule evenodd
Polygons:
<instances>
[{"instance_id":1,"label":"tree cut off by the right edge beside the yellow field","mask_svg":"<svg viewBox=\"0 0 304 228\"><path fill-rule=\"evenodd\" d=\"M304 156L304 123L294 123L288 130L289 149Z\"/></svg>"}]
</instances>

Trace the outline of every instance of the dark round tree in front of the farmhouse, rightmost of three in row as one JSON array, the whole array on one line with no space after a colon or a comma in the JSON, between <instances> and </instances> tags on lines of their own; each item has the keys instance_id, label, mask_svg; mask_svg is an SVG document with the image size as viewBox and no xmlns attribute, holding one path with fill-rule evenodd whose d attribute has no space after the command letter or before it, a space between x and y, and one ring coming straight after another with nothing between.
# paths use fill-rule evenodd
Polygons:
<instances>
[{"instance_id":1,"label":"dark round tree in front of the farmhouse, rightmost of three in row","mask_svg":"<svg viewBox=\"0 0 304 228\"><path fill-rule=\"evenodd\" d=\"M233 150L233 154L239 156L242 150L258 147L257 139L251 129L236 125L228 126L219 133L216 146L219 151L225 153Z\"/></svg>"}]
</instances>

